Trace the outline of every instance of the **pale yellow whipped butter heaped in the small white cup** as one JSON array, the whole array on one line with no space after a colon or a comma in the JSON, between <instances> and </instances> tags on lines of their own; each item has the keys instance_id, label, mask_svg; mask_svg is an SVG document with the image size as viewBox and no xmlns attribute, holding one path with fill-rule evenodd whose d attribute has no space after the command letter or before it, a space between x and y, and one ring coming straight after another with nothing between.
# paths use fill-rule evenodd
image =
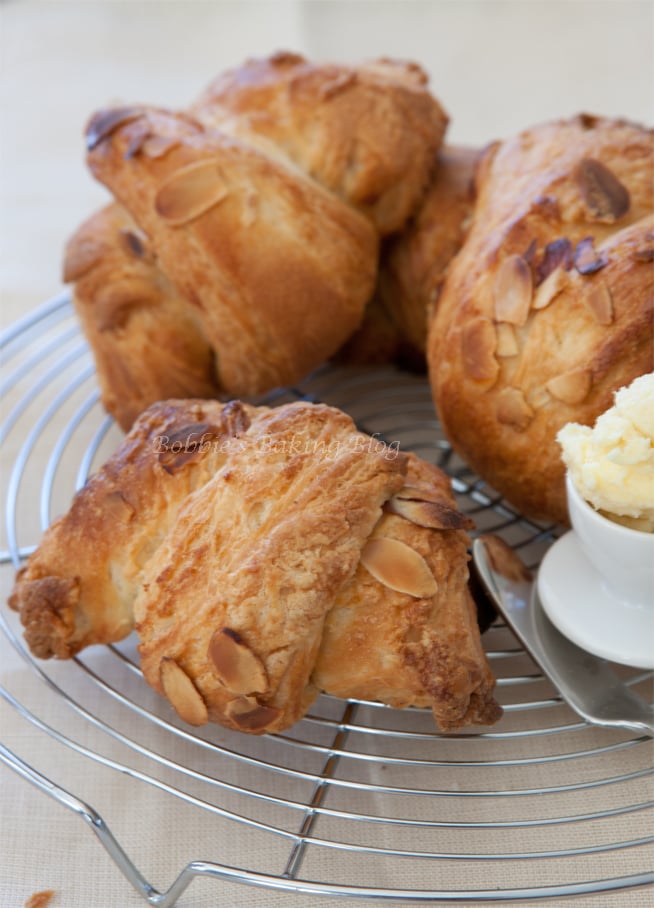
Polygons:
<instances>
[{"instance_id":1,"label":"pale yellow whipped butter heaped in the small white cup","mask_svg":"<svg viewBox=\"0 0 654 908\"><path fill-rule=\"evenodd\" d=\"M586 501L618 523L654 532L654 372L617 391L593 428L568 423L557 440Z\"/></svg>"}]
</instances>

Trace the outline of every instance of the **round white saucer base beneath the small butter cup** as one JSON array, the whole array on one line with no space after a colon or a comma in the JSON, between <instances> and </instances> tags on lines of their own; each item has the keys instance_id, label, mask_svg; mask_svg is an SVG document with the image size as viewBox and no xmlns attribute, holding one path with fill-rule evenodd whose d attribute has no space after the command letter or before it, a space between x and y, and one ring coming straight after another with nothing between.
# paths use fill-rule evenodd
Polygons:
<instances>
[{"instance_id":1,"label":"round white saucer base beneath the small butter cup","mask_svg":"<svg viewBox=\"0 0 654 908\"><path fill-rule=\"evenodd\" d=\"M637 668L654 668L654 609L617 599L571 531L548 549L538 572L548 618L588 652Z\"/></svg>"}]
</instances>

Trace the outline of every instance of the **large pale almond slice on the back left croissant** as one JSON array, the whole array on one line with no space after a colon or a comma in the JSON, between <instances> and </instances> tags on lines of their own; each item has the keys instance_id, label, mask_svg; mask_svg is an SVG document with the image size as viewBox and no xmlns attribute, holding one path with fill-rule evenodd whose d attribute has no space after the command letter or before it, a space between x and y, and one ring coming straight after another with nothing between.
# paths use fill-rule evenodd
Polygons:
<instances>
[{"instance_id":1,"label":"large pale almond slice on the back left croissant","mask_svg":"<svg viewBox=\"0 0 654 908\"><path fill-rule=\"evenodd\" d=\"M159 188L154 205L157 213L175 226L200 217L228 193L215 161L195 161L176 171Z\"/></svg>"}]
</instances>

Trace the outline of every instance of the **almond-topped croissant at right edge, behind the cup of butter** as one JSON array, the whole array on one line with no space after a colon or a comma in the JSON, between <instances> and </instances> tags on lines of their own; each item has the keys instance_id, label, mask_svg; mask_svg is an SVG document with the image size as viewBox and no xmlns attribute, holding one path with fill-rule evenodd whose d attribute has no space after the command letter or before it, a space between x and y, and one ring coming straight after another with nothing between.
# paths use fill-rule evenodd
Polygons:
<instances>
[{"instance_id":1,"label":"almond-topped croissant at right edge, behind the cup of butter","mask_svg":"<svg viewBox=\"0 0 654 908\"><path fill-rule=\"evenodd\" d=\"M524 514L567 522L556 443L652 369L651 131L582 115L497 143L430 324L455 449Z\"/></svg>"}]
</instances>

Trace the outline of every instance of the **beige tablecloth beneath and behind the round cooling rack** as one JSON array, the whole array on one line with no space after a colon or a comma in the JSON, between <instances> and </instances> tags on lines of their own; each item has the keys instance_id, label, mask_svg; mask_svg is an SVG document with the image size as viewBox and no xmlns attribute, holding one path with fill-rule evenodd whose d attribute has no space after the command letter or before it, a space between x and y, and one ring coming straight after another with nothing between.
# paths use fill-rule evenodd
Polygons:
<instances>
[{"instance_id":1,"label":"beige tablecloth beneath and behind the round cooling rack","mask_svg":"<svg viewBox=\"0 0 654 908\"><path fill-rule=\"evenodd\" d=\"M316 59L384 55L419 61L450 113L453 142L480 145L580 110L651 122L652 11L650 2L633 0L5 0L0 6L3 326L61 289L63 245L106 198L85 170L81 140L89 113L99 106L120 101L181 106L218 71L248 56L293 49ZM14 456L15 450L3 449L4 471ZM13 572L7 566L2 570L4 600ZM65 683L62 668L57 676ZM4 639L0 680L56 728L70 730L82 743L93 736L88 722L69 729L69 711L57 697L46 696ZM115 769L71 755L4 701L0 730L0 740L23 759L106 812L159 888L193 859L216 860L224 853L225 863L265 864L262 854L252 855L251 863L241 854L239 862L238 843L217 848L210 823L197 810L184 809ZM117 744L115 749L107 745L107 753L121 759ZM623 759L616 752L607 772L619 772ZM592 809L593 803L590 790L577 812ZM525 850L528 840L525 832ZM339 860L346 862L338 853L325 860L332 874ZM533 868L534 884L545 882L538 862ZM624 872L630 869L625 866ZM507 887L514 884L511 872L509 865ZM411 883L408 876L385 885ZM470 885L484 885L478 868ZM142 904L79 817L0 765L0 908L17 908L33 892L49 888L56 893L53 908ZM637 889L581 896L572 904L644 908L651 898L651 891ZM189 908L286 904L334 902L209 880L196 881L180 901Z\"/></svg>"}]
</instances>

